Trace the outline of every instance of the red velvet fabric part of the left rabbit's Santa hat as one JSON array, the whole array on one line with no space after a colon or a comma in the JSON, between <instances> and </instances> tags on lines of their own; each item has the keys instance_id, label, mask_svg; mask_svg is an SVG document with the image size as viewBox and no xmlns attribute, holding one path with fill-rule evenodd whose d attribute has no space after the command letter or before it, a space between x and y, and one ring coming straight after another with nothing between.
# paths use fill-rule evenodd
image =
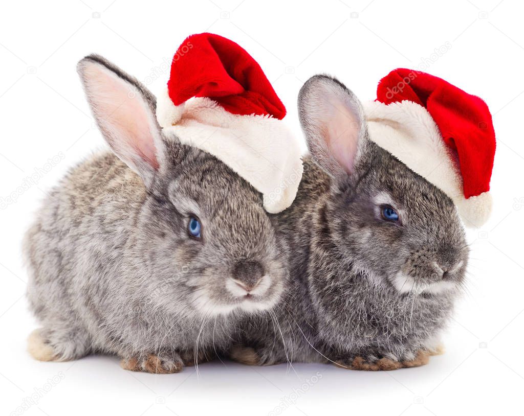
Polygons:
<instances>
[{"instance_id":1,"label":"red velvet fabric part of the left rabbit's Santa hat","mask_svg":"<svg viewBox=\"0 0 524 416\"><path fill-rule=\"evenodd\" d=\"M260 65L237 43L213 33L182 42L167 85L176 106L192 97L209 97L232 114L286 115Z\"/></svg>"}]
</instances>

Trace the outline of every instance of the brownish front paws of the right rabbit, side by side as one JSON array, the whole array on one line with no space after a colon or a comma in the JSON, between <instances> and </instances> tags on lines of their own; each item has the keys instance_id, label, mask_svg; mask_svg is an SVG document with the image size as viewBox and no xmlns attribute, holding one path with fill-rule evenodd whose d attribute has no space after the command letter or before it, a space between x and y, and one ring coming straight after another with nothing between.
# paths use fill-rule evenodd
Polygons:
<instances>
[{"instance_id":1,"label":"brownish front paws of the right rabbit, side by side","mask_svg":"<svg viewBox=\"0 0 524 416\"><path fill-rule=\"evenodd\" d=\"M341 368L364 371L390 371L399 368L420 367L428 364L430 354L427 351L419 351L412 359L398 360L391 354L383 357L355 356L350 358L340 358L335 361L335 365Z\"/></svg>"}]
</instances>

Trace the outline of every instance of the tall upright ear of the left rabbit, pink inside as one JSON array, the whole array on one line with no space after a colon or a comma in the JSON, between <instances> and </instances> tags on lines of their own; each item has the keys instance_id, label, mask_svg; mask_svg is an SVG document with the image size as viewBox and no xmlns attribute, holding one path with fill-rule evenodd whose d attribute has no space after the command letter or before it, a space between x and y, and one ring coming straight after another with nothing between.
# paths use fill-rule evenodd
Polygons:
<instances>
[{"instance_id":1,"label":"tall upright ear of the left rabbit, pink inside","mask_svg":"<svg viewBox=\"0 0 524 416\"><path fill-rule=\"evenodd\" d=\"M105 140L118 158L150 185L164 153L155 97L98 55L82 59L78 73Z\"/></svg>"}]
</instances>

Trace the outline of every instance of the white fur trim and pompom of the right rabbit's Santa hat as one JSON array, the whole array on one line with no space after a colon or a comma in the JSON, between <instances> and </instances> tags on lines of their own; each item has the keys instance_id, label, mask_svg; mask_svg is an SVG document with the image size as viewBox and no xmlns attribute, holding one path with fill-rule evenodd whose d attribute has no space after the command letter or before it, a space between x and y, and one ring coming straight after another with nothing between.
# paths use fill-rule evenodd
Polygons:
<instances>
[{"instance_id":1,"label":"white fur trim and pompom of the right rabbit's Santa hat","mask_svg":"<svg viewBox=\"0 0 524 416\"><path fill-rule=\"evenodd\" d=\"M373 101L364 104L364 112L370 139L449 196L466 226L480 227L487 221L489 193L464 197L456 156L428 110L407 100L389 105Z\"/></svg>"}]
</instances>

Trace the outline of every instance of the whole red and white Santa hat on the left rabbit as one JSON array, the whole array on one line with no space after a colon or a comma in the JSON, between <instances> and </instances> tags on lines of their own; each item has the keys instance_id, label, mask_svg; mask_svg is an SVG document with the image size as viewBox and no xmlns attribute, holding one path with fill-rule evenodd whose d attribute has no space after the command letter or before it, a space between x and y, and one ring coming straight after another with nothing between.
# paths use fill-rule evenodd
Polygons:
<instances>
[{"instance_id":1,"label":"whole red and white Santa hat on the left rabbit","mask_svg":"<svg viewBox=\"0 0 524 416\"><path fill-rule=\"evenodd\" d=\"M271 213L291 205L302 177L300 146L285 115L260 65L212 33L182 42L157 99L160 127L230 166L263 194Z\"/></svg>"}]
</instances>

